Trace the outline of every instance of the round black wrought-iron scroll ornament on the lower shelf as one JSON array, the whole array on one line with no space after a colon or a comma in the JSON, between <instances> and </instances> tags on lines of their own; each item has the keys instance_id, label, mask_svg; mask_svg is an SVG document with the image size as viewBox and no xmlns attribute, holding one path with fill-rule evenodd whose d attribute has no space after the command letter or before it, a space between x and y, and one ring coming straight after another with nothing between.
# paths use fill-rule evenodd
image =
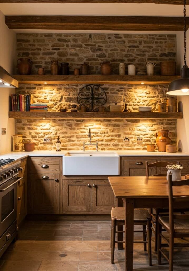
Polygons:
<instances>
[{"instance_id":1,"label":"round black wrought-iron scroll ornament on the lower shelf","mask_svg":"<svg viewBox=\"0 0 189 271\"><path fill-rule=\"evenodd\" d=\"M98 112L96 106L106 104L107 95L100 85L86 85L79 91L77 101L80 106L87 106L87 112Z\"/></svg>"}]
</instances>

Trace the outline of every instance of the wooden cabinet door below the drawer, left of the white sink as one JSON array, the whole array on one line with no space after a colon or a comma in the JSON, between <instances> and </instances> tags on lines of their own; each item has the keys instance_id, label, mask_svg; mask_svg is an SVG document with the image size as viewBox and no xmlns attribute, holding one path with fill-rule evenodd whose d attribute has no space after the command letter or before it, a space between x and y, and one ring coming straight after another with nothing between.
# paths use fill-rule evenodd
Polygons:
<instances>
[{"instance_id":1,"label":"wooden cabinet door below the drawer, left of the white sink","mask_svg":"<svg viewBox=\"0 0 189 271\"><path fill-rule=\"evenodd\" d=\"M59 214L59 174L31 174L28 186L29 214Z\"/></svg>"}]
</instances>

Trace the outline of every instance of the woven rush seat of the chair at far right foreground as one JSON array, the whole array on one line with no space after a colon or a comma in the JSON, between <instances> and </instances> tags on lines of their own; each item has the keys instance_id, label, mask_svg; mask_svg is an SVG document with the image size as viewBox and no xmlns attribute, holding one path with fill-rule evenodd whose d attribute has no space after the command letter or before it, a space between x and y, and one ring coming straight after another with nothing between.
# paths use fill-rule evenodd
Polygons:
<instances>
[{"instance_id":1,"label":"woven rush seat of the chair at far right foreground","mask_svg":"<svg viewBox=\"0 0 189 271\"><path fill-rule=\"evenodd\" d=\"M169 217L159 217L160 224L169 232L170 223ZM174 232L175 233L189 233L189 220L174 219Z\"/></svg>"}]
</instances>

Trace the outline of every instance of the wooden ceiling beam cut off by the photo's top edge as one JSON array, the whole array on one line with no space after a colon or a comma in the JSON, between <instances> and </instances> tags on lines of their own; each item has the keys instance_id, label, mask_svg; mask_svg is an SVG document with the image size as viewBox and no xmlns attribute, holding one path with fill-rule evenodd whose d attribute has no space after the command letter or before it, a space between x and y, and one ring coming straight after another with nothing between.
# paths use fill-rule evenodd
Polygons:
<instances>
[{"instance_id":1,"label":"wooden ceiling beam cut off by the photo's top edge","mask_svg":"<svg viewBox=\"0 0 189 271\"><path fill-rule=\"evenodd\" d=\"M1 0L1 3L56 3L56 4L71 4L71 3L117 3L117 4L165 4L165 5L183 5L183 0ZM189 0L186 1L189 5Z\"/></svg>"}]
</instances>

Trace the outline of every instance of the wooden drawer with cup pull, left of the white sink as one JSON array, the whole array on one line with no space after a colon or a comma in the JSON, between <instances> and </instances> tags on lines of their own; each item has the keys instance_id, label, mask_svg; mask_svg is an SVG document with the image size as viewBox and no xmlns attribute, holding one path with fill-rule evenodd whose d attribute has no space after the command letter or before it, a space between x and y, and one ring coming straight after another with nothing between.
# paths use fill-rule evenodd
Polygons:
<instances>
[{"instance_id":1,"label":"wooden drawer with cup pull, left of the white sink","mask_svg":"<svg viewBox=\"0 0 189 271\"><path fill-rule=\"evenodd\" d=\"M32 159L30 160L30 171L32 172L39 172L39 171L59 171L59 159Z\"/></svg>"}]
</instances>

